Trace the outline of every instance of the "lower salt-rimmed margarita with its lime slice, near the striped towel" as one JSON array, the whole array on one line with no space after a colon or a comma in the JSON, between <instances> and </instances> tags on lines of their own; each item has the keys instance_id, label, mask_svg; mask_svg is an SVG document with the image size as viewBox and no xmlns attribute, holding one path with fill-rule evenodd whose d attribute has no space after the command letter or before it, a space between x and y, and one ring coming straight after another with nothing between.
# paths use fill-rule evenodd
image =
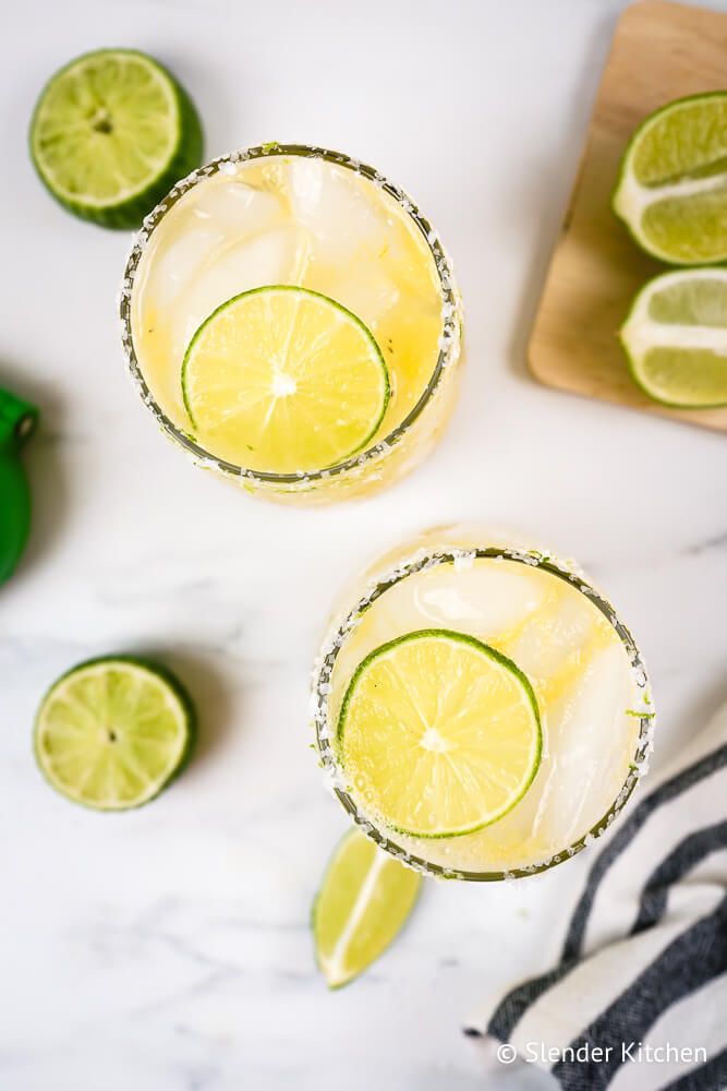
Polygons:
<instances>
[{"instance_id":1,"label":"lower salt-rimmed margarita with its lime slice, near the striped towel","mask_svg":"<svg viewBox=\"0 0 727 1091\"><path fill-rule=\"evenodd\" d=\"M318 752L378 843L436 875L543 871L603 832L645 770L640 652L570 563L468 528L374 565L316 662Z\"/></svg>"}]
</instances>

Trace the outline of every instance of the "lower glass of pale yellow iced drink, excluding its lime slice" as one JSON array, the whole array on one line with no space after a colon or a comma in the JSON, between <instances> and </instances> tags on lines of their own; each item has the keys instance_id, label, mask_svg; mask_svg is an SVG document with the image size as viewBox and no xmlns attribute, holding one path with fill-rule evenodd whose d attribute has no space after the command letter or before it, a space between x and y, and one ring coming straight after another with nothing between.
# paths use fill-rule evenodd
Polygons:
<instances>
[{"instance_id":1,"label":"lower glass of pale yellow iced drink, excluding its lime slice","mask_svg":"<svg viewBox=\"0 0 727 1091\"><path fill-rule=\"evenodd\" d=\"M455 837L388 827L350 782L337 745L356 668L422 630L463 633L506 655L530 680L542 720L542 758L524 795L492 825ZM451 682L433 681L443 692ZM364 829L435 874L504 878L559 863L607 827L645 769L653 709L630 634L578 568L451 528L395 550L347 594L316 664L314 715L331 783ZM422 723L422 747L427 734Z\"/></svg>"}]
</instances>

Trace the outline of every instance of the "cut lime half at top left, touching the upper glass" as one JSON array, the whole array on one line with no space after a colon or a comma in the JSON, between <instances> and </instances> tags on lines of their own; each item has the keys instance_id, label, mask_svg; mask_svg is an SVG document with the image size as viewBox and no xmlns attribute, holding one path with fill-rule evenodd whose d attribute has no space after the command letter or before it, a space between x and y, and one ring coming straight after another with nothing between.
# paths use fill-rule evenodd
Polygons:
<instances>
[{"instance_id":1,"label":"cut lime half at top left, touching the upper glass","mask_svg":"<svg viewBox=\"0 0 727 1091\"><path fill-rule=\"evenodd\" d=\"M85 53L48 81L31 122L40 179L70 212L136 228L202 161L202 127L186 92L133 49Z\"/></svg>"}]
</instances>

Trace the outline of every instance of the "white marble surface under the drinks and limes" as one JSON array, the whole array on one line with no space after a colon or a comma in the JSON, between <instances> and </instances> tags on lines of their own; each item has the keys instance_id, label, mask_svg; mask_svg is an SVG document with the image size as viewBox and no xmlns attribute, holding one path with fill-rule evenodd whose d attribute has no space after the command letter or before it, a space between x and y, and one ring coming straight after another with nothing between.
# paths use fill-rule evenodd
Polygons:
<instances>
[{"instance_id":1,"label":"white marble surface under the drinks and limes","mask_svg":"<svg viewBox=\"0 0 727 1091\"><path fill-rule=\"evenodd\" d=\"M621 7L25 0L5 16L0 382L37 399L44 427L32 547L0 592L3 1089L483 1087L461 1021L547 964L585 855L525 884L428 885L341 993L312 957L311 899L346 823L308 750L310 660L336 588L398 538L480 519L578 556L645 651L657 762L724 697L724 437L550 393L523 368ZM445 441L397 488L278 508L195 471L153 427L117 344L129 239L59 209L25 148L48 73L114 44L179 73L210 156L341 147L438 225L469 362ZM59 672L117 649L183 672L202 742L152 806L99 816L43 782L31 724Z\"/></svg>"}]
</instances>

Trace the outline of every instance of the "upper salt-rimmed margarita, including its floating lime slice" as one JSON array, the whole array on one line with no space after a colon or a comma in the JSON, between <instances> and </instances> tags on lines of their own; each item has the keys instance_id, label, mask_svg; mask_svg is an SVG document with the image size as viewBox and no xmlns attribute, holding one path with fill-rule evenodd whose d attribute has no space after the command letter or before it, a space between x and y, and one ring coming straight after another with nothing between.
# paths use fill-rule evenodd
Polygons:
<instances>
[{"instance_id":1,"label":"upper salt-rimmed margarita, including its floating lime slice","mask_svg":"<svg viewBox=\"0 0 727 1091\"><path fill-rule=\"evenodd\" d=\"M266 145L183 179L145 221L121 316L168 435L274 499L393 479L452 406L460 302L439 239L338 153Z\"/></svg>"}]
</instances>

